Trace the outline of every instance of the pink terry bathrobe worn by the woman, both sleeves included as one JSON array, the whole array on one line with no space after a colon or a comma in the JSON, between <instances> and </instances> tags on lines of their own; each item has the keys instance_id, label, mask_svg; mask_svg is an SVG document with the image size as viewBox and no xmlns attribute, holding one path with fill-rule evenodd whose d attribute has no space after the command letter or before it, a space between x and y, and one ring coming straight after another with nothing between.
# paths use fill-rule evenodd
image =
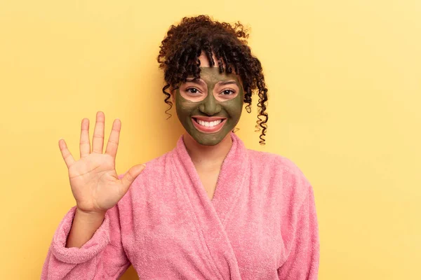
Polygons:
<instances>
[{"instance_id":1,"label":"pink terry bathrobe worn by the woman, both sleeves included","mask_svg":"<svg viewBox=\"0 0 421 280\"><path fill-rule=\"evenodd\" d=\"M312 186L287 158L231 137L212 200L180 137L147 162L81 248L65 248L70 209L41 279L118 279L131 264L140 279L317 279Z\"/></svg>"}]
</instances>

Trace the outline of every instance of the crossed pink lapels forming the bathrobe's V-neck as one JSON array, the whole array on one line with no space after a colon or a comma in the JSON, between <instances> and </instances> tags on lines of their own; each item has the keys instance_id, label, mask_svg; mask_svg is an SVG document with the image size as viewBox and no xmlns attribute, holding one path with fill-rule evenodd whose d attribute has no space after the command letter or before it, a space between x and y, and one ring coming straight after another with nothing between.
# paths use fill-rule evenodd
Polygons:
<instances>
[{"instance_id":1,"label":"crossed pink lapels forming the bathrobe's V-neck","mask_svg":"<svg viewBox=\"0 0 421 280\"><path fill-rule=\"evenodd\" d=\"M214 266L220 279L241 279L239 265L225 227L232 218L230 213L241 197L247 170L250 170L248 153L243 142L232 132L231 137L232 148L222 163L213 200L209 200L203 188L182 137L172 153L174 177L179 181L176 185L184 189L189 207L192 207L192 218L199 225L205 253L209 255L210 265ZM182 181L181 178L185 180Z\"/></svg>"}]
</instances>

